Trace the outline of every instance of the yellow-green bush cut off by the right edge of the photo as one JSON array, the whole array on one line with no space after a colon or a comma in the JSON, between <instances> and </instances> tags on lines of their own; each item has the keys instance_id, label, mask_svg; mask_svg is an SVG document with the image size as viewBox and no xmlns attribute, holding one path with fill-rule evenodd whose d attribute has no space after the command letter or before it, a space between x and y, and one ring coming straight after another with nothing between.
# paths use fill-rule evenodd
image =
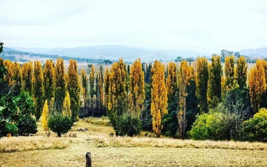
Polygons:
<instances>
[{"instance_id":1,"label":"yellow-green bush cut off by the right edge of the photo","mask_svg":"<svg viewBox=\"0 0 267 167\"><path fill-rule=\"evenodd\" d=\"M261 108L253 118L243 122L245 131L241 140L267 142L267 109Z\"/></svg>"}]
</instances>

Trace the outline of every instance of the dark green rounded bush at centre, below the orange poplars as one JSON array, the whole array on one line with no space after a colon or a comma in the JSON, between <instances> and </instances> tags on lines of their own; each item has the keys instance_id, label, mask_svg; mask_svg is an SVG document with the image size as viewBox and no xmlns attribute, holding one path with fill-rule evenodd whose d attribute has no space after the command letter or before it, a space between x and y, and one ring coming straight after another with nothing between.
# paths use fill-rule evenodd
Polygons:
<instances>
[{"instance_id":1,"label":"dark green rounded bush at centre, below the orange poplars","mask_svg":"<svg viewBox=\"0 0 267 167\"><path fill-rule=\"evenodd\" d=\"M135 136L140 134L142 124L137 116L125 113L119 117L118 124L114 128L117 136Z\"/></svg>"}]
</instances>

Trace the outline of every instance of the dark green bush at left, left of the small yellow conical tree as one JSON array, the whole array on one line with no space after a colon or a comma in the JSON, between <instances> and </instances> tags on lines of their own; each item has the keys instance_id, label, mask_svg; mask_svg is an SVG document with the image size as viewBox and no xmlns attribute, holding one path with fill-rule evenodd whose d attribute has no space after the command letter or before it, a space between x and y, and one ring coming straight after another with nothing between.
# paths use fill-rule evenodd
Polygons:
<instances>
[{"instance_id":1,"label":"dark green bush at left, left of the small yellow conical tree","mask_svg":"<svg viewBox=\"0 0 267 167\"><path fill-rule=\"evenodd\" d=\"M28 136L29 134L37 133L36 120L32 116L23 115L21 121L18 123L19 135Z\"/></svg>"}]
</instances>

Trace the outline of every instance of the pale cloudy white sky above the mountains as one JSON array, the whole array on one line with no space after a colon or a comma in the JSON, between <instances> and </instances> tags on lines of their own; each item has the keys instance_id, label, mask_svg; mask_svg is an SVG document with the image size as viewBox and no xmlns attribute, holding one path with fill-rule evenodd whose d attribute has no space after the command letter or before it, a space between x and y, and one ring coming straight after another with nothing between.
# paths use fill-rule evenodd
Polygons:
<instances>
[{"instance_id":1,"label":"pale cloudy white sky above the mountains","mask_svg":"<svg viewBox=\"0 0 267 167\"><path fill-rule=\"evenodd\" d=\"M0 0L6 47L267 47L266 0Z\"/></svg>"}]
</instances>

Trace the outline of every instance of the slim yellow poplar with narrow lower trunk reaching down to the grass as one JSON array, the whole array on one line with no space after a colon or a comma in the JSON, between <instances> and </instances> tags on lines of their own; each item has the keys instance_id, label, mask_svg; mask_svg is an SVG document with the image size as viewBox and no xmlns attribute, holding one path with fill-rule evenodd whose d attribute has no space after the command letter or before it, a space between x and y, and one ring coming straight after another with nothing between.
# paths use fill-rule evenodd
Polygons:
<instances>
[{"instance_id":1,"label":"slim yellow poplar with narrow lower trunk reaching down to the grass","mask_svg":"<svg viewBox=\"0 0 267 167\"><path fill-rule=\"evenodd\" d=\"M179 124L179 137L185 138L186 128L186 88L189 85L189 80L192 77L192 72L188 66L186 60L181 61L180 68L178 71L178 85L179 85L179 109L177 113L178 124Z\"/></svg>"}]
</instances>

